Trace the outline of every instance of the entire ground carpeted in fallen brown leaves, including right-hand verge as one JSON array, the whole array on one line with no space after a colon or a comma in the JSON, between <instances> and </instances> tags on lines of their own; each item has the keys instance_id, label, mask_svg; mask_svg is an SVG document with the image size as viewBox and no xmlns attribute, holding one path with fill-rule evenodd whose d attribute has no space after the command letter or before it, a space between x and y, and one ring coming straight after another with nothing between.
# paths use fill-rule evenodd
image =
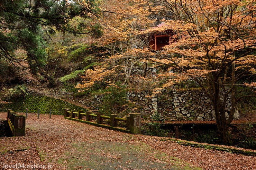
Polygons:
<instances>
[{"instance_id":1,"label":"entire ground carpeted in fallen brown leaves, including right-hand verge","mask_svg":"<svg viewBox=\"0 0 256 170\"><path fill-rule=\"evenodd\" d=\"M7 113L0 113L0 118L6 117ZM41 114L37 119L30 113L26 136L0 138L0 169L18 163L52 165L56 170L256 169L253 156L181 146L165 139L116 132L63 116L49 119Z\"/></svg>"}]
</instances>

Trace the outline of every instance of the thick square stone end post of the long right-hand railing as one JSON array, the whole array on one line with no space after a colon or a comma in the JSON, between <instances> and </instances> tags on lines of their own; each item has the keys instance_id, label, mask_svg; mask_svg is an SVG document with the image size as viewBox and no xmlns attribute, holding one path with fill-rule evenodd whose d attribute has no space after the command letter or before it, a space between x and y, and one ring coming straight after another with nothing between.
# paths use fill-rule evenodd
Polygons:
<instances>
[{"instance_id":1,"label":"thick square stone end post of the long right-hand railing","mask_svg":"<svg viewBox=\"0 0 256 170\"><path fill-rule=\"evenodd\" d=\"M141 134L141 119L139 113L130 113L127 127L131 134ZM127 120L127 119L126 119Z\"/></svg>"}]
</instances>

